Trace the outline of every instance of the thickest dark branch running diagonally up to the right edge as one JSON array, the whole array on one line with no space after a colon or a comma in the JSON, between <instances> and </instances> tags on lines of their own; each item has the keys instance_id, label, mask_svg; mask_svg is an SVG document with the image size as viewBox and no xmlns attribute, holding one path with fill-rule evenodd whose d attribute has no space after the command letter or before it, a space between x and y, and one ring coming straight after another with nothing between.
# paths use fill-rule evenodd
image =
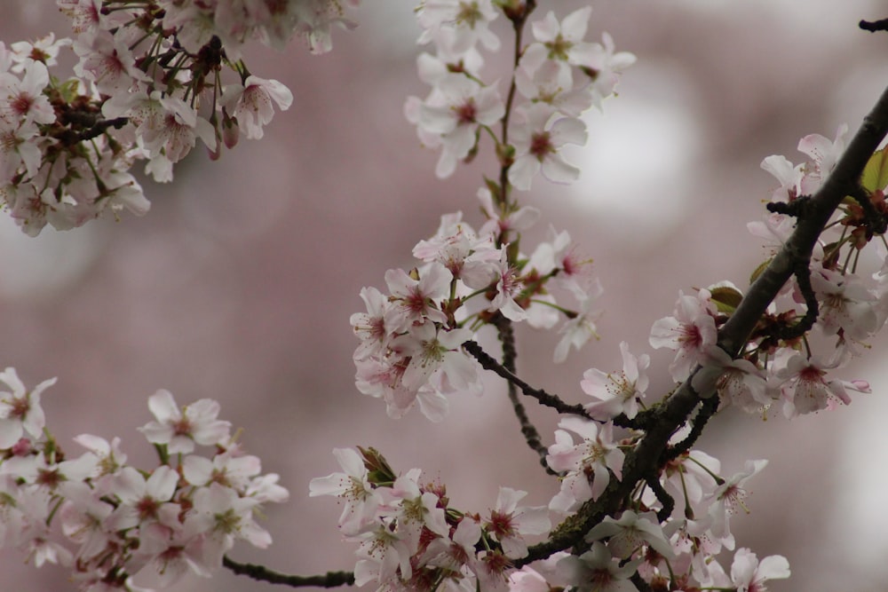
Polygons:
<instances>
[{"instance_id":1,"label":"thickest dark branch running diagonally up to the right edge","mask_svg":"<svg viewBox=\"0 0 888 592\"><path fill-rule=\"evenodd\" d=\"M844 196L854 192L869 157L876 152L886 134L888 134L888 90L883 92L876 102L876 107L873 107L864 118L860 129L854 134L851 143L820 191L813 195L811 207L805 209L805 216L798 221L789 241L758 276L736 311L718 332L718 345L732 357L741 352L768 304L771 304L792 276L797 263L810 259L814 245L829 223L829 217ZM592 526L620 509L622 502L627 495L630 495L639 480L645 479L651 471L661 469L665 460L663 453L671 436L687 421L701 399L713 396L716 390L715 381L718 376L714 373L701 375L692 386L700 370L700 367L694 368L694 372L678 387L678 390L665 399L661 406L656 407L657 421L650 422L650 428L644 438L641 438L638 446L626 454L622 480L612 480L598 500L585 502L566 527L552 533L549 541L531 547L528 555L517 560L516 565L525 565L542 559L582 541L584 534L588 533Z\"/></svg>"}]
</instances>

